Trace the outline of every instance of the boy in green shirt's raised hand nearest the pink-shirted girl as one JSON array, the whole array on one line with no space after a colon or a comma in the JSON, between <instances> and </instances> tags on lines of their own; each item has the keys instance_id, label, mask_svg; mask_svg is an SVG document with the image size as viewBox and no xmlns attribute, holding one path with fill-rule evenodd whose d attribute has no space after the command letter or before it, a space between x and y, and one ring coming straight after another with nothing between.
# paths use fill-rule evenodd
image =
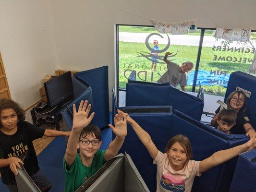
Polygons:
<instances>
[{"instance_id":1,"label":"boy in green shirt's raised hand nearest the pink-shirted girl","mask_svg":"<svg viewBox=\"0 0 256 192\"><path fill-rule=\"evenodd\" d=\"M109 124L112 131L118 137L125 137L127 135L127 123L126 123L126 116L123 116L121 110L118 110L118 113L114 117L115 127Z\"/></svg>"}]
</instances>

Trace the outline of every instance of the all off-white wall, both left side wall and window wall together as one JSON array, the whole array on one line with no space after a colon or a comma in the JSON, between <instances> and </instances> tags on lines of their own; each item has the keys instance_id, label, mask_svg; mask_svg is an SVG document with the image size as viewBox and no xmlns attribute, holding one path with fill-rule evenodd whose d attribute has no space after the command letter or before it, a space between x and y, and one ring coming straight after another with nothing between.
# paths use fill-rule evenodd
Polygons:
<instances>
[{"instance_id":1,"label":"all off-white wall, both left side wall and window wall together","mask_svg":"<svg viewBox=\"0 0 256 192\"><path fill-rule=\"evenodd\" d=\"M152 25L149 19L171 23L208 15L228 28L256 29L255 8L256 0L0 0L0 51L12 98L24 108L31 105L40 98L42 78L56 69L109 65L114 87L115 24ZM217 24L202 17L197 26Z\"/></svg>"}]
</instances>

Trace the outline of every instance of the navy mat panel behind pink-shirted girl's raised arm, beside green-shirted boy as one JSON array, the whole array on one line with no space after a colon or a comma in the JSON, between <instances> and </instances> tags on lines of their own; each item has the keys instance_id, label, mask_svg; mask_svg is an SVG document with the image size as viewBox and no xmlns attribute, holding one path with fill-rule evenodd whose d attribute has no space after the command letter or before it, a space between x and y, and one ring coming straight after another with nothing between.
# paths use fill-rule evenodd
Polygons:
<instances>
[{"instance_id":1,"label":"navy mat panel behind pink-shirted girl's raised arm, beside green-shirted boy","mask_svg":"<svg viewBox=\"0 0 256 192\"><path fill-rule=\"evenodd\" d=\"M164 152L171 135L172 113L134 113L130 116L148 132L158 149ZM155 192L157 167L130 125L127 126L127 132L119 152L126 151L131 156L148 189Z\"/></svg>"}]
</instances>

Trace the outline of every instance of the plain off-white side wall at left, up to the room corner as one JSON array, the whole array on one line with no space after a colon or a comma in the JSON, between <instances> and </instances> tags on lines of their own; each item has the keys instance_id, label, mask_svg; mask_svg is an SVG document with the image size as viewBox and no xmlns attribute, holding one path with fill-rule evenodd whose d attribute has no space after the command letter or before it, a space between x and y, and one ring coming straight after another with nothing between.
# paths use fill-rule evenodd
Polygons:
<instances>
[{"instance_id":1,"label":"plain off-white side wall at left, up to the room corner","mask_svg":"<svg viewBox=\"0 0 256 192\"><path fill-rule=\"evenodd\" d=\"M12 99L27 108L57 68L49 0L0 1L0 51Z\"/></svg>"}]
</instances>

